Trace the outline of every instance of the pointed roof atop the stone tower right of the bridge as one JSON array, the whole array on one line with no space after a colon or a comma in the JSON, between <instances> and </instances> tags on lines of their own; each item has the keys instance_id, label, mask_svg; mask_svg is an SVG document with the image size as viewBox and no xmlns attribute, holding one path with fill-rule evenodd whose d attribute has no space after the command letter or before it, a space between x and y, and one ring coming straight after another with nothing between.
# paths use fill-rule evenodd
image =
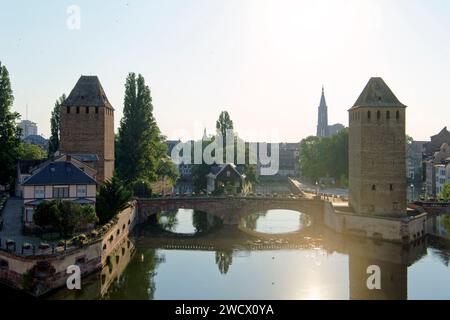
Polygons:
<instances>
[{"instance_id":1,"label":"pointed roof atop the stone tower right of the bridge","mask_svg":"<svg viewBox=\"0 0 450 320\"><path fill-rule=\"evenodd\" d=\"M356 100L353 108L375 107L375 108L406 108L382 78L371 78L363 92Z\"/></svg>"}]
</instances>

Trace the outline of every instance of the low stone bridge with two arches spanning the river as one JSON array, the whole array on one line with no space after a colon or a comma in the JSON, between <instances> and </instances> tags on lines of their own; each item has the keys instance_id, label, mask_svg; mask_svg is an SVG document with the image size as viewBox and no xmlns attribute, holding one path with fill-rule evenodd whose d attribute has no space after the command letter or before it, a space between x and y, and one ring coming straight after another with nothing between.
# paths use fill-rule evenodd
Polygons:
<instances>
[{"instance_id":1,"label":"low stone bridge with two arches spanning the river","mask_svg":"<svg viewBox=\"0 0 450 320\"><path fill-rule=\"evenodd\" d=\"M238 225L249 214L271 209L295 210L307 214L311 219L321 220L324 201L303 197L166 197L140 198L137 200L139 217L145 221L161 211L193 209L211 214L226 225Z\"/></svg>"}]
</instances>

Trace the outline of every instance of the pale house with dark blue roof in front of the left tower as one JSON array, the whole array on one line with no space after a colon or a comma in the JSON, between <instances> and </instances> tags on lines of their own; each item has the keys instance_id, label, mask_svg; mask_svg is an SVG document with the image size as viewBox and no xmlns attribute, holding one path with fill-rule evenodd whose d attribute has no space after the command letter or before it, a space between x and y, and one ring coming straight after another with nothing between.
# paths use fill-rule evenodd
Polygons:
<instances>
[{"instance_id":1,"label":"pale house with dark blue roof in front of the left tower","mask_svg":"<svg viewBox=\"0 0 450 320\"><path fill-rule=\"evenodd\" d=\"M95 178L82 170L76 160L66 157L47 161L22 183L24 222L33 222L35 208L43 201L74 201L79 204L95 204ZM92 170L91 168L88 168Z\"/></svg>"}]
</instances>

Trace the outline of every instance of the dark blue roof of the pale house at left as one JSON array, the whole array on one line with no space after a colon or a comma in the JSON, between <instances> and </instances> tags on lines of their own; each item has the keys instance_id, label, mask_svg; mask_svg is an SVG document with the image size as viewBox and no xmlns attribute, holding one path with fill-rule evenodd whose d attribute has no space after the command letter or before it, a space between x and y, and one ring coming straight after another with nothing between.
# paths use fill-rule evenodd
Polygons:
<instances>
[{"instance_id":1,"label":"dark blue roof of the pale house at left","mask_svg":"<svg viewBox=\"0 0 450 320\"><path fill-rule=\"evenodd\" d=\"M95 184L95 180L73 163L56 161L48 163L36 174L28 178L23 185L63 185L63 184Z\"/></svg>"}]
</instances>

